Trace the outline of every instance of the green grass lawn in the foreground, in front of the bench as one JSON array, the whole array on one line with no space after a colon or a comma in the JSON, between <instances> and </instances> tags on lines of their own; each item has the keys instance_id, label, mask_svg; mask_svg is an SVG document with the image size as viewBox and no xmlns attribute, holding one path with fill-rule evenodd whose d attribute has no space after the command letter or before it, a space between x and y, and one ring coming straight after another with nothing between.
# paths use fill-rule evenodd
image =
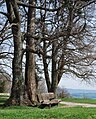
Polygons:
<instances>
[{"instance_id":1,"label":"green grass lawn in the foreground, in front of the bench","mask_svg":"<svg viewBox=\"0 0 96 119\"><path fill-rule=\"evenodd\" d=\"M0 96L0 104L8 98ZM0 107L0 119L96 119L96 108L72 107L63 105L51 109L33 107Z\"/></svg>"}]
</instances>

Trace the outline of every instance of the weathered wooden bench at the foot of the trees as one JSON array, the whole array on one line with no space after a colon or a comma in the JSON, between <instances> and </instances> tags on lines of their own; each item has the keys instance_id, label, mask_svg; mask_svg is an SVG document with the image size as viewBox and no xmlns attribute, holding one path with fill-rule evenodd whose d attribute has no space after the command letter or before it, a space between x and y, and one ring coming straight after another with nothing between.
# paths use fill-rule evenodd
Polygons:
<instances>
[{"instance_id":1,"label":"weathered wooden bench at the foot of the trees","mask_svg":"<svg viewBox=\"0 0 96 119\"><path fill-rule=\"evenodd\" d=\"M55 105L58 105L60 100L55 99L54 93L41 93L38 94L38 101L39 101L39 107L45 108L45 107L52 107Z\"/></svg>"}]
</instances>

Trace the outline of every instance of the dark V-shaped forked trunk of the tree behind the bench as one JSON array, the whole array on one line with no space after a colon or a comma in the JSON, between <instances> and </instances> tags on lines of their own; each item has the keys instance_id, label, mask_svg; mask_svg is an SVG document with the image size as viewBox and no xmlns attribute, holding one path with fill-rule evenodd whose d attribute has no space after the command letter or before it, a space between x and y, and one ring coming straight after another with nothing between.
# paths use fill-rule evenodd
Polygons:
<instances>
[{"instance_id":1,"label":"dark V-shaped forked trunk of the tree behind the bench","mask_svg":"<svg viewBox=\"0 0 96 119\"><path fill-rule=\"evenodd\" d=\"M47 89L48 92L53 92L56 96L56 89L57 89L57 85L58 85L58 72L56 69L56 54L55 54L55 50L56 50L56 42L53 43L52 45L52 72L51 72L51 80L49 77L49 72L48 72L48 63L47 63L47 53L46 53L46 42L44 41L43 43L43 64L44 64L44 75L45 75L45 80L46 80L46 84L47 84Z\"/></svg>"}]
</instances>

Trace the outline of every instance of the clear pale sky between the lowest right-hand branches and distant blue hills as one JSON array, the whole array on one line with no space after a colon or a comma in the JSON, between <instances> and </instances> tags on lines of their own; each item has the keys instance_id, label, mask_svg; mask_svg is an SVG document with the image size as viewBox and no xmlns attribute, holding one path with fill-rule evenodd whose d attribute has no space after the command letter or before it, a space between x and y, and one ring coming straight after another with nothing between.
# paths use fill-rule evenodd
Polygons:
<instances>
[{"instance_id":1,"label":"clear pale sky between the lowest right-hand branches and distant blue hills","mask_svg":"<svg viewBox=\"0 0 96 119\"><path fill-rule=\"evenodd\" d=\"M96 90L96 83L91 82L90 84L77 79L76 77L72 78L72 76L65 76L59 83L59 86L62 88L68 89L84 89L84 90Z\"/></svg>"}]
</instances>

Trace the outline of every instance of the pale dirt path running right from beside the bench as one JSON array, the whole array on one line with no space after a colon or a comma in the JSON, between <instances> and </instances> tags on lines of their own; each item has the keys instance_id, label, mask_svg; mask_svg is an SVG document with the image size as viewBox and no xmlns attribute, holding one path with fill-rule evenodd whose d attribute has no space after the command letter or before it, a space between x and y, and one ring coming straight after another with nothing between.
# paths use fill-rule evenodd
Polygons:
<instances>
[{"instance_id":1,"label":"pale dirt path running right from beside the bench","mask_svg":"<svg viewBox=\"0 0 96 119\"><path fill-rule=\"evenodd\" d=\"M64 104L64 107L96 107L96 104L87 104L87 103L75 103L75 102L64 102L61 101L60 104Z\"/></svg>"}]
</instances>

